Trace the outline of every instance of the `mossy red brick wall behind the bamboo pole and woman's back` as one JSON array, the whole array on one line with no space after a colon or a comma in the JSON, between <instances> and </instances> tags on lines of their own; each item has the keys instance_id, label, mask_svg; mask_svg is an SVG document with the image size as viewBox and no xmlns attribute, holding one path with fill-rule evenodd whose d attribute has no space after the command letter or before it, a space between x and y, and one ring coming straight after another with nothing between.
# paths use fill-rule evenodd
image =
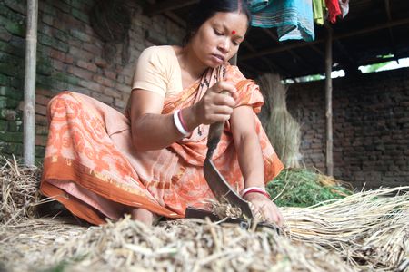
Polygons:
<instances>
[{"instance_id":1,"label":"mossy red brick wall behind the bamboo pole and woman's back","mask_svg":"<svg viewBox=\"0 0 409 272\"><path fill-rule=\"evenodd\" d=\"M157 15L142 15L129 1L132 25L130 58L122 64L121 44L115 58L103 57L104 43L90 26L95 0L40 0L38 17L35 157L42 160L47 139L46 104L55 93L82 92L123 111L131 91L135 61L150 41L181 41L184 31ZM0 0L0 153L22 155L25 71L25 0ZM149 30L148 41L145 36Z\"/></svg>"}]
</instances>

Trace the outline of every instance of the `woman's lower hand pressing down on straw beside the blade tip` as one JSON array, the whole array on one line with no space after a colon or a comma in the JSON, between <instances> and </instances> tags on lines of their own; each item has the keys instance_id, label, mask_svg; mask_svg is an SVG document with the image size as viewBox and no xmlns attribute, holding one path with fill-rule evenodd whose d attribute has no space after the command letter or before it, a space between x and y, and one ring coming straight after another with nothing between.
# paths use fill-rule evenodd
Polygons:
<instances>
[{"instance_id":1,"label":"woman's lower hand pressing down on straw beside the blade tip","mask_svg":"<svg viewBox=\"0 0 409 272\"><path fill-rule=\"evenodd\" d=\"M271 199L256 192L247 193L244 199L253 204L254 215L260 213L267 221L274 222L279 227L283 226L283 215Z\"/></svg>"}]
</instances>

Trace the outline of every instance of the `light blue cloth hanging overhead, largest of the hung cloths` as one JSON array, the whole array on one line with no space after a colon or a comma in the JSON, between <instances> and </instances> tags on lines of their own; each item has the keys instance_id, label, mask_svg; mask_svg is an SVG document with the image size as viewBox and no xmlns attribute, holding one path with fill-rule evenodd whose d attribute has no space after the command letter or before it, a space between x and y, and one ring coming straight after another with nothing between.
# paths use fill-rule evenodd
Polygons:
<instances>
[{"instance_id":1,"label":"light blue cloth hanging overhead, largest of the hung cloths","mask_svg":"<svg viewBox=\"0 0 409 272\"><path fill-rule=\"evenodd\" d=\"M272 0L268 5L261 0L249 1L254 6L251 24L257 27L277 27L279 41L314 41L312 0ZM263 9L259 9L264 4Z\"/></svg>"}]
</instances>

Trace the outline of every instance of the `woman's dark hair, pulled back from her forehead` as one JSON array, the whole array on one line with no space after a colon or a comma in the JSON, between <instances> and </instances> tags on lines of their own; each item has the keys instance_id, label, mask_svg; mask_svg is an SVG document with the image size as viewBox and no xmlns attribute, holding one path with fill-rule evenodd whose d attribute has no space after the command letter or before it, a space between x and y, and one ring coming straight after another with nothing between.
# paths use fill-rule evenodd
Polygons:
<instances>
[{"instance_id":1,"label":"woman's dark hair, pulled back from her forehead","mask_svg":"<svg viewBox=\"0 0 409 272\"><path fill-rule=\"evenodd\" d=\"M189 43L192 36L208 19L216 13L240 13L247 16L250 24L252 15L245 0L201 0L189 14L183 44Z\"/></svg>"}]
</instances>

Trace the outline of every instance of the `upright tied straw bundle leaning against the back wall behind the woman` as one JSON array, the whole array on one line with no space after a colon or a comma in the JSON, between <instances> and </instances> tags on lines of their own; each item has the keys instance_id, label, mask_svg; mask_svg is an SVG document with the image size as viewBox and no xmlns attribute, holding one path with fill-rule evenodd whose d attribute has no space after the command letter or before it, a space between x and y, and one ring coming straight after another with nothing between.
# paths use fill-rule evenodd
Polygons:
<instances>
[{"instance_id":1,"label":"upright tied straw bundle leaning against the back wall behind the woman","mask_svg":"<svg viewBox=\"0 0 409 272\"><path fill-rule=\"evenodd\" d=\"M287 110L287 87L276 73L266 73L258 81L264 95L264 129L274 150L287 168L300 166L300 125Z\"/></svg>"}]
</instances>

